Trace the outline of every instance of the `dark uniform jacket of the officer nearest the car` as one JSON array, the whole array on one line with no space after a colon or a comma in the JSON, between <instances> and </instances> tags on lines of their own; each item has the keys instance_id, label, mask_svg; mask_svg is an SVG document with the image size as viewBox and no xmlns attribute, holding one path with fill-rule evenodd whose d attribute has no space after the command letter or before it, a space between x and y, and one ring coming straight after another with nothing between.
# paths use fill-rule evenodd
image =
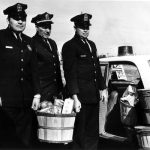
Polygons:
<instances>
[{"instance_id":1,"label":"dark uniform jacket of the officer nearest the car","mask_svg":"<svg viewBox=\"0 0 150 150\"><path fill-rule=\"evenodd\" d=\"M64 76L69 94L77 94L82 103L97 103L99 90L105 88L101 75L97 50L88 40L92 52L76 34L62 48Z\"/></svg>"}]
</instances>

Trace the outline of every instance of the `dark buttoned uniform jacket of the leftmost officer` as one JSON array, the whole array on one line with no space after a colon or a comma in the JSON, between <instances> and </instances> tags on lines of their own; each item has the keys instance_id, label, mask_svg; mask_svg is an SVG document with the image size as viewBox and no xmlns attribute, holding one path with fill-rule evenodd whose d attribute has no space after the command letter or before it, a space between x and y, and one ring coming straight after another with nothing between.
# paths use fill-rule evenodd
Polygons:
<instances>
[{"instance_id":1,"label":"dark buttoned uniform jacket of the leftmost officer","mask_svg":"<svg viewBox=\"0 0 150 150\"><path fill-rule=\"evenodd\" d=\"M22 34L19 43L13 32L0 30L0 97L8 107L31 106L40 93L37 61L31 38Z\"/></svg>"}]
</instances>

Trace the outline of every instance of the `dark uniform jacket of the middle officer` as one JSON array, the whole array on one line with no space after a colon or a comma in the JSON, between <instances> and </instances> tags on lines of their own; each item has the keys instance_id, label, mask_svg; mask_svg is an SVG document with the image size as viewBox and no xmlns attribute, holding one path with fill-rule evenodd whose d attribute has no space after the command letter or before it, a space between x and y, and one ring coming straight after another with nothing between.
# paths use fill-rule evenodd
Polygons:
<instances>
[{"instance_id":1,"label":"dark uniform jacket of the middle officer","mask_svg":"<svg viewBox=\"0 0 150 150\"><path fill-rule=\"evenodd\" d=\"M60 62L58 58L57 45L54 40L48 39L52 49L44 39L36 34L32 38L38 58L38 73L41 85L41 100L52 100L53 96L58 96L63 88Z\"/></svg>"}]
</instances>

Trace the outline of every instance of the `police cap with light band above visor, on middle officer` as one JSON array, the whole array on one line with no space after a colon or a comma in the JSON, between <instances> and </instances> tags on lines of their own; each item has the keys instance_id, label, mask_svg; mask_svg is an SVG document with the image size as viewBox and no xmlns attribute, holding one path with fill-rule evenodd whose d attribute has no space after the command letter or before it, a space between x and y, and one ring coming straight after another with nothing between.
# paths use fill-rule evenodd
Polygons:
<instances>
[{"instance_id":1,"label":"police cap with light band above visor, on middle officer","mask_svg":"<svg viewBox=\"0 0 150 150\"><path fill-rule=\"evenodd\" d=\"M51 26L51 24L53 24L52 19L53 18L53 14L49 14L47 12L43 13L43 14L39 14L37 16L35 16L34 18L32 18L31 22L35 23L35 25L37 26Z\"/></svg>"}]
</instances>

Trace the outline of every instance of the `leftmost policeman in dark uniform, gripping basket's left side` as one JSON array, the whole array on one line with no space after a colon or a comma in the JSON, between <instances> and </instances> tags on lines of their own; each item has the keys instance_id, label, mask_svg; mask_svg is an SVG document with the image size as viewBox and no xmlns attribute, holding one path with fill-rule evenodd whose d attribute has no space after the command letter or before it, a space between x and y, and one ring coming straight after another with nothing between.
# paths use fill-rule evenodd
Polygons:
<instances>
[{"instance_id":1,"label":"leftmost policeman in dark uniform, gripping basket's left side","mask_svg":"<svg viewBox=\"0 0 150 150\"><path fill-rule=\"evenodd\" d=\"M31 38L22 33L26 9L22 3L5 9L8 27L0 30L0 133L9 147L30 146L33 109L40 102L36 55Z\"/></svg>"}]
</instances>

